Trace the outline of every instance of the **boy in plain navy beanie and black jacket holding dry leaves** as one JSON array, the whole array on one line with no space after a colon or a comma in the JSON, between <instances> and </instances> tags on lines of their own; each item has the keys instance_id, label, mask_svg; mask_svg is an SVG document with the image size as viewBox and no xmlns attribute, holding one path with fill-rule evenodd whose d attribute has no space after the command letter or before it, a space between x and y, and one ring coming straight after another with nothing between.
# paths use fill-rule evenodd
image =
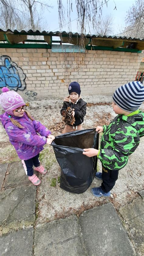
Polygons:
<instances>
[{"instance_id":1,"label":"boy in plain navy beanie and black jacket holding dry leaves","mask_svg":"<svg viewBox=\"0 0 144 256\"><path fill-rule=\"evenodd\" d=\"M84 116L86 114L86 105L87 103L84 102L83 99L81 99L81 88L79 83L72 82L70 83L68 87L69 96L64 98L63 100L63 107L60 110L60 113L62 115L63 110L66 110L68 107L71 107L74 109L72 112L72 115L75 118L74 125L66 125L63 133L73 132L75 130L81 130L81 123L84 122Z\"/></svg>"}]
</instances>

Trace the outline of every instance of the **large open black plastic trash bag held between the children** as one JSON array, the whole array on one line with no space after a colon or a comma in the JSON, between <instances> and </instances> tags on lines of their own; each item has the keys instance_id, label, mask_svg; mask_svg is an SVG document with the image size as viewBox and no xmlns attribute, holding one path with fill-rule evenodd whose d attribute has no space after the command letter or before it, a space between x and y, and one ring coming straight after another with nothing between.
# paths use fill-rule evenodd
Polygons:
<instances>
[{"instance_id":1,"label":"large open black plastic trash bag held between the children","mask_svg":"<svg viewBox=\"0 0 144 256\"><path fill-rule=\"evenodd\" d=\"M61 167L60 188L71 193L85 192L94 179L97 156L83 155L84 148L98 149L99 134L95 129L64 133L52 142L55 156Z\"/></svg>"}]
</instances>

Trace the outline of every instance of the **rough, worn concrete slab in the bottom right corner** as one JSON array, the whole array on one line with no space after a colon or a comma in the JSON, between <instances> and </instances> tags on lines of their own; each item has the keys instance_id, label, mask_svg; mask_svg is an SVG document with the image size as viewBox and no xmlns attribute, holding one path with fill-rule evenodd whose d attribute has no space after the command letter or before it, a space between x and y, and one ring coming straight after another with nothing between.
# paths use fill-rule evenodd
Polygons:
<instances>
[{"instance_id":1,"label":"rough, worn concrete slab in the bottom right corner","mask_svg":"<svg viewBox=\"0 0 144 256\"><path fill-rule=\"evenodd\" d=\"M125 205L119 209L122 217L125 220L125 228L128 230L133 244L137 250L144 254L144 202L137 198L131 204Z\"/></svg>"}]
</instances>

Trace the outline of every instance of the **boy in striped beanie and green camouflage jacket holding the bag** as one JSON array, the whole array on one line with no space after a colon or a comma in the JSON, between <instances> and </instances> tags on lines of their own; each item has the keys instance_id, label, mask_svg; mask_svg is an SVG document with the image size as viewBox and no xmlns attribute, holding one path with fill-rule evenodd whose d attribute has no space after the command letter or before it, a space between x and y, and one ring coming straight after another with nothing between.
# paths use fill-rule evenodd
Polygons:
<instances>
[{"instance_id":1,"label":"boy in striped beanie and green camouflage jacket holding the bag","mask_svg":"<svg viewBox=\"0 0 144 256\"><path fill-rule=\"evenodd\" d=\"M144 113L139 110L144 101L144 87L141 82L133 81L122 85L113 94L113 110L116 116L109 125L98 126L96 131L103 132L100 149L87 148L83 154L97 156L102 163L102 173L95 177L103 180L91 192L94 196L110 196L110 190L118 179L118 171L128 162L144 136Z\"/></svg>"}]
</instances>

